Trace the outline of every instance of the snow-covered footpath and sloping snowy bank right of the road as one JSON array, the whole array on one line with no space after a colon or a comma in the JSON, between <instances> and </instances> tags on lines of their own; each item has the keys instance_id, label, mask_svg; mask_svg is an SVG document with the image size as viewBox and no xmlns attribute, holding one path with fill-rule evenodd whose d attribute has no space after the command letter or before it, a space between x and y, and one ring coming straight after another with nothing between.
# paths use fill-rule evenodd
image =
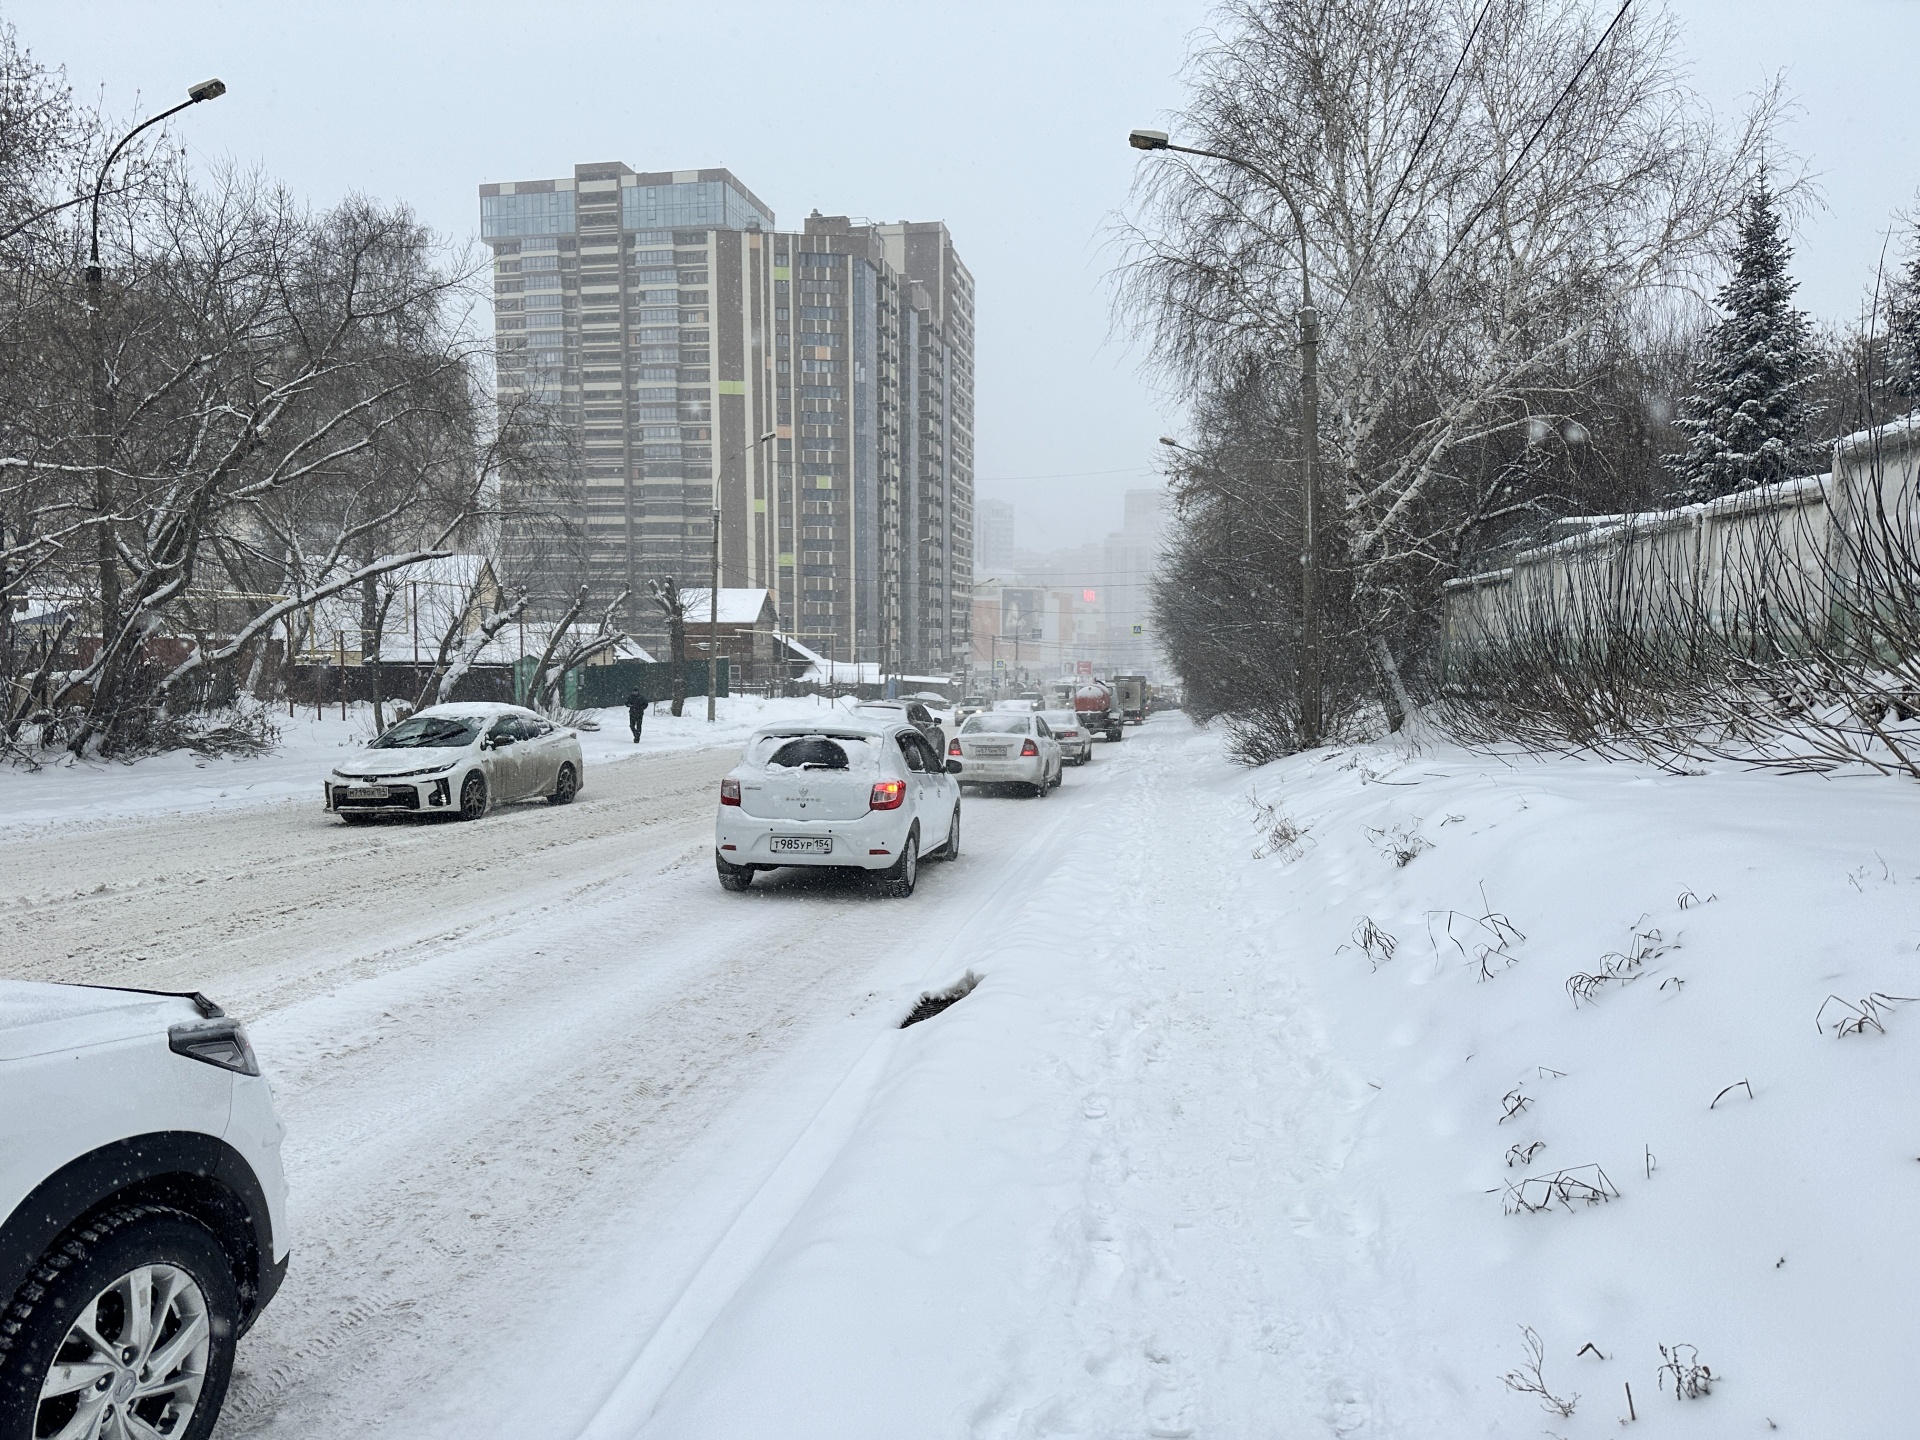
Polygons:
<instances>
[{"instance_id":1,"label":"snow-covered footpath and sloping snowy bank right of the road","mask_svg":"<svg viewBox=\"0 0 1920 1440\"><path fill-rule=\"evenodd\" d=\"M1912 1432L1912 785L1100 764L589 1434Z\"/></svg>"}]
</instances>

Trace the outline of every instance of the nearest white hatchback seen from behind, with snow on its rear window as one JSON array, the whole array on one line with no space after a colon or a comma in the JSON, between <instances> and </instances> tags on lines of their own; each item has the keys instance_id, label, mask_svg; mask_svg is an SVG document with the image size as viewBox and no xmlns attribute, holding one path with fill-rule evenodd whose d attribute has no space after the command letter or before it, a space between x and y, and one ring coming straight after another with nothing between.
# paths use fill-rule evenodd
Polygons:
<instances>
[{"instance_id":1,"label":"nearest white hatchback seen from behind, with snow on its rear window","mask_svg":"<svg viewBox=\"0 0 1920 1440\"><path fill-rule=\"evenodd\" d=\"M730 891L778 866L872 872L914 893L920 856L960 854L960 785L914 726L860 718L766 726L720 781L714 868Z\"/></svg>"}]
</instances>

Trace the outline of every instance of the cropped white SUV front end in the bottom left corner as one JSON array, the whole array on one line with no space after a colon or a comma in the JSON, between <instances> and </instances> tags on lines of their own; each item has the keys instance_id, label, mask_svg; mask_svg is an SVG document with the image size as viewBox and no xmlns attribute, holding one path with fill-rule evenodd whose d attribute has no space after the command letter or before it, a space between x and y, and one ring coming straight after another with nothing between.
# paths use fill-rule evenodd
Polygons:
<instances>
[{"instance_id":1,"label":"cropped white SUV front end in the bottom left corner","mask_svg":"<svg viewBox=\"0 0 1920 1440\"><path fill-rule=\"evenodd\" d=\"M284 1129L200 995L0 981L0 1440L202 1440L286 1275Z\"/></svg>"}]
</instances>

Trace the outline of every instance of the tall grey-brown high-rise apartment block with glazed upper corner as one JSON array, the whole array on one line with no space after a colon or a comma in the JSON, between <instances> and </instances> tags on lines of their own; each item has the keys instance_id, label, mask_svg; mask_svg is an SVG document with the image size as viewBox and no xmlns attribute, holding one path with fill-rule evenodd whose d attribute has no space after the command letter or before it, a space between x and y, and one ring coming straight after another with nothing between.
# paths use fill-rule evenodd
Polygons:
<instances>
[{"instance_id":1,"label":"tall grey-brown high-rise apartment block with glazed upper corner","mask_svg":"<svg viewBox=\"0 0 1920 1440\"><path fill-rule=\"evenodd\" d=\"M588 582L774 591L808 647L964 664L973 282L941 223L781 232L728 171L486 184L501 401L578 440ZM628 624L657 636L636 599Z\"/></svg>"}]
</instances>

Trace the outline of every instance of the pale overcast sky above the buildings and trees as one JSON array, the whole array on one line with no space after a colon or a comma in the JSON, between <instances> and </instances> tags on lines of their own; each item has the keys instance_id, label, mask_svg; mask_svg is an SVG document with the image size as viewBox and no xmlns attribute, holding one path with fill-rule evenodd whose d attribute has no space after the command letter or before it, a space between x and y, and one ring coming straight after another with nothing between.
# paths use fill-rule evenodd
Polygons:
<instances>
[{"instance_id":1,"label":"pale overcast sky above the buildings and trees","mask_svg":"<svg viewBox=\"0 0 1920 1440\"><path fill-rule=\"evenodd\" d=\"M1826 207L1801 227L1801 301L1859 309L1920 186L1916 0L1678 0L1699 90L1738 109L1786 71ZM81 92L132 113L219 75L182 117L202 159L257 163L315 204L405 200L478 228L482 180L726 165L774 207L945 219L979 284L979 492L1050 549L1119 524L1177 409L1110 338L1102 244L1137 156L1179 106L1210 0L545 0L221 4L13 0L0 13Z\"/></svg>"}]
</instances>

